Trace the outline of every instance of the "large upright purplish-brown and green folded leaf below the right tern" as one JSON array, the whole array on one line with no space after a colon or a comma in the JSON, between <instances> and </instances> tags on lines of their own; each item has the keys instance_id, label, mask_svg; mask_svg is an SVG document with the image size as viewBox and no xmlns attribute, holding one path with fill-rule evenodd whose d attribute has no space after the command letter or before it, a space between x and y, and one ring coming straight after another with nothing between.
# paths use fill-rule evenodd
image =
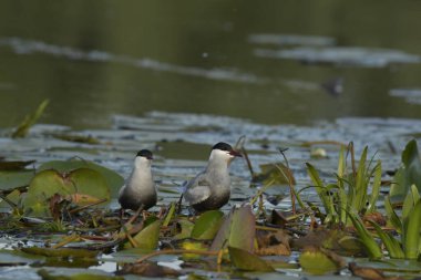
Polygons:
<instances>
[{"instance_id":1,"label":"large upright purplish-brown and green folded leaf below the right tern","mask_svg":"<svg viewBox=\"0 0 421 280\"><path fill-rule=\"evenodd\" d=\"M254 250L256 219L249 205L233 208L224 219L210 250L220 250L227 246L249 252Z\"/></svg>"}]
</instances>

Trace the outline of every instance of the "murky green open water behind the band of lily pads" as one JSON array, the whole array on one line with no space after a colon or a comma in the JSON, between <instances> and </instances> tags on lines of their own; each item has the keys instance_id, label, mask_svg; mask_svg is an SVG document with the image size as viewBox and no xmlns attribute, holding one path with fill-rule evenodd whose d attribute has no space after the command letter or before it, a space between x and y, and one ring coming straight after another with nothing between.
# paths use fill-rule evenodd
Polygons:
<instances>
[{"instance_id":1,"label":"murky green open water behind the band of lily pads","mask_svg":"<svg viewBox=\"0 0 421 280\"><path fill-rule=\"evenodd\" d=\"M268 124L419 118L420 10L417 1L2 1L0 125L45 97L43 121L76 128L150 111ZM338 77L338 96L320 86Z\"/></svg>"}]
</instances>

